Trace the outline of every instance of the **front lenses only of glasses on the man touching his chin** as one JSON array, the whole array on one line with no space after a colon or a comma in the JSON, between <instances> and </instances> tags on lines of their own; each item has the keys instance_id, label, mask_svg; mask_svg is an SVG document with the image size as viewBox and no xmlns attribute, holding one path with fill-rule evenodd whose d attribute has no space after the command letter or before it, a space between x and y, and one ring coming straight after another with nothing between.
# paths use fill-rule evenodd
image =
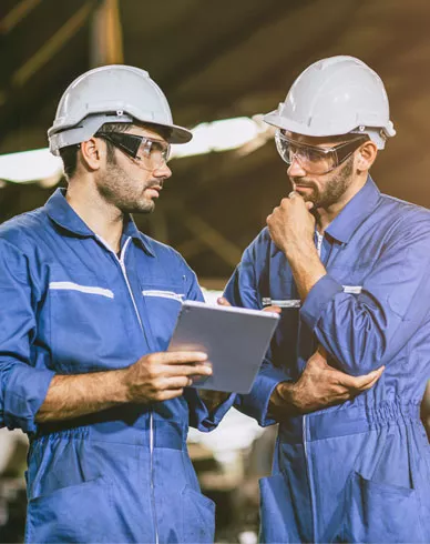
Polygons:
<instances>
[{"instance_id":1,"label":"front lenses only of glasses on the man touching his chin","mask_svg":"<svg viewBox=\"0 0 430 544\"><path fill-rule=\"evenodd\" d=\"M279 155L288 165L296 160L306 172L313 174L324 174L337 167L337 155L331 150L300 145L280 132L276 133L275 142Z\"/></svg>"}]
</instances>

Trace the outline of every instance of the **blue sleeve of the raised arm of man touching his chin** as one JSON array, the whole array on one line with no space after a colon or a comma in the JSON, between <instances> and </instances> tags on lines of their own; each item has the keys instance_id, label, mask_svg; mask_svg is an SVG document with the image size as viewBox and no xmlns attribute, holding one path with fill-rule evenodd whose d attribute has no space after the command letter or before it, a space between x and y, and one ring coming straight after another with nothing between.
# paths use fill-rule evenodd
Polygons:
<instances>
[{"instance_id":1,"label":"blue sleeve of the raised arm of man touching his chin","mask_svg":"<svg viewBox=\"0 0 430 544\"><path fill-rule=\"evenodd\" d=\"M429 246L429 225L412 228L386 245L360 294L345 293L329 274L311 289L300 315L340 370L358 375L389 364L426 321Z\"/></svg>"}]
</instances>

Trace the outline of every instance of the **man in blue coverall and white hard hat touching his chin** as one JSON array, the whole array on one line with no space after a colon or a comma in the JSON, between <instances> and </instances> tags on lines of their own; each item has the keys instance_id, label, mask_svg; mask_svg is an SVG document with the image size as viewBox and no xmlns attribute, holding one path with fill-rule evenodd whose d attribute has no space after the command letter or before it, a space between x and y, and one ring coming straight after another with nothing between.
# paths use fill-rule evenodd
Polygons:
<instances>
[{"instance_id":1,"label":"man in blue coverall and white hard hat touching his chin","mask_svg":"<svg viewBox=\"0 0 430 544\"><path fill-rule=\"evenodd\" d=\"M265 120L293 192L225 291L234 305L281 308L264 373L238 400L262 424L279 422L273 475L260 482L262 541L428 543L419 407L430 376L430 213L381 194L368 174L396 133L386 90L358 59L324 59ZM350 375L385 372L339 405L291 412L316 349ZM259 381L269 390L270 369L284 380L266 417Z\"/></svg>"}]
</instances>

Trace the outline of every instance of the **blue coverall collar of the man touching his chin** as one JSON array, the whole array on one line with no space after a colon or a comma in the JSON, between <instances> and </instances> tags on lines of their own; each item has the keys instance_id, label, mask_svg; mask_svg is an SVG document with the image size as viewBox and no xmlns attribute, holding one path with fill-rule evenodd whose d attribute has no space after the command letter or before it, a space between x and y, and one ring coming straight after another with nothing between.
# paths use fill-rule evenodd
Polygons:
<instances>
[{"instance_id":1,"label":"blue coverall collar of the man touching his chin","mask_svg":"<svg viewBox=\"0 0 430 544\"><path fill-rule=\"evenodd\" d=\"M379 198L380 191L369 175L366 184L327 226L326 233L338 242L348 243L358 226L372 213Z\"/></svg>"}]
</instances>

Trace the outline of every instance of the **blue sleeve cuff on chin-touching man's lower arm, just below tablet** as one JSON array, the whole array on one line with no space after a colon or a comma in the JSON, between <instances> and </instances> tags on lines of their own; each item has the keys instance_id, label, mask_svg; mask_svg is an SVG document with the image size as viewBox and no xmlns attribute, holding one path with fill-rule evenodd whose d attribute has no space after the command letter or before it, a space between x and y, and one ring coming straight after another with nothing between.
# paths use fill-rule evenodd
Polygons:
<instances>
[{"instance_id":1,"label":"blue sleeve cuff on chin-touching man's lower arm, just below tablet","mask_svg":"<svg viewBox=\"0 0 430 544\"><path fill-rule=\"evenodd\" d=\"M257 420L260 426L274 425L276 421L267 416L269 400L276 385L286 381L289 379L284 371L267 364L260 370L250 392L247 395L237 395L235 406Z\"/></svg>"}]
</instances>

